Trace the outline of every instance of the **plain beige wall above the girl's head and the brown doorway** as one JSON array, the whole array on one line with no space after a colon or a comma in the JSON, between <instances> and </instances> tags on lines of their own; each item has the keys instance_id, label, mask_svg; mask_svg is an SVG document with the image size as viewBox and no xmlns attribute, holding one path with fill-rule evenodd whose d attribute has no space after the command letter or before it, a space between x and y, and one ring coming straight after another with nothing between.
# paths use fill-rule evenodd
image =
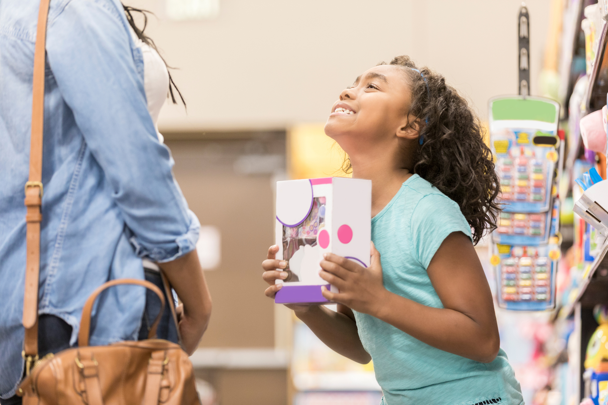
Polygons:
<instances>
[{"instance_id":1,"label":"plain beige wall above the girl's head and the brown doorway","mask_svg":"<svg viewBox=\"0 0 608 405\"><path fill-rule=\"evenodd\" d=\"M148 34L188 103L161 131L287 128L324 122L339 92L378 61L408 54L443 73L482 118L517 89L519 0L220 0L217 19L169 21L165 0L123 0L156 13ZM531 94L538 94L550 0L527 1Z\"/></svg>"}]
</instances>

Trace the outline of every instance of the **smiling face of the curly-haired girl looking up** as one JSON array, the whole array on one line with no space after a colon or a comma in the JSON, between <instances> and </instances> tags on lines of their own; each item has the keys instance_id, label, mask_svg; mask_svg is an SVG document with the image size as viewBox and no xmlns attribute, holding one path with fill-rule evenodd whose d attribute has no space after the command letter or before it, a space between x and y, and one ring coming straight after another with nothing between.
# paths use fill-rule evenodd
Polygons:
<instances>
[{"instance_id":1,"label":"smiling face of the curly-haired girl looking up","mask_svg":"<svg viewBox=\"0 0 608 405\"><path fill-rule=\"evenodd\" d=\"M361 153L398 148L402 141L412 141L418 136L418 132L408 126L411 95L401 66L372 67L359 76L352 87L342 91L331 108L325 134L351 159Z\"/></svg>"}]
</instances>

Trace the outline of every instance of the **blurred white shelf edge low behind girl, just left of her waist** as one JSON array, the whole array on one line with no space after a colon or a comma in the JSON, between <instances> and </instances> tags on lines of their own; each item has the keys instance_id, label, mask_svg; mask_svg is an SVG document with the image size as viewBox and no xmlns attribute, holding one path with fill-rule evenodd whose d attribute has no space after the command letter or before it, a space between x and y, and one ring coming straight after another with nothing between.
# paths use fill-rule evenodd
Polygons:
<instances>
[{"instance_id":1,"label":"blurred white shelf edge low behind girl, just left of her waist","mask_svg":"<svg viewBox=\"0 0 608 405\"><path fill-rule=\"evenodd\" d=\"M294 386L300 391L379 391L374 372L295 373Z\"/></svg>"}]
</instances>

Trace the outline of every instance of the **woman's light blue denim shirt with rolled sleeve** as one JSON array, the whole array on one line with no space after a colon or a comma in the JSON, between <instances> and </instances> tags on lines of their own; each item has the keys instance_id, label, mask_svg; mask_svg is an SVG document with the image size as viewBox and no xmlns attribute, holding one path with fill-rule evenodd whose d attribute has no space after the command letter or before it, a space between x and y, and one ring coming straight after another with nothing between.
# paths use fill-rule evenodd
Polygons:
<instances>
[{"instance_id":1,"label":"woman's light blue denim shirt with rolled sleeve","mask_svg":"<svg viewBox=\"0 0 608 405\"><path fill-rule=\"evenodd\" d=\"M32 70L39 0L0 0L0 396L23 373L21 315ZM188 209L148 114L142 55L119 0L51 0L46 41L39 314L76 341L81 308L110 279L143 278L192 251ZM91 344L134 339L145 294L112 287L98 299Z\"/></svg>"}]
</instances>

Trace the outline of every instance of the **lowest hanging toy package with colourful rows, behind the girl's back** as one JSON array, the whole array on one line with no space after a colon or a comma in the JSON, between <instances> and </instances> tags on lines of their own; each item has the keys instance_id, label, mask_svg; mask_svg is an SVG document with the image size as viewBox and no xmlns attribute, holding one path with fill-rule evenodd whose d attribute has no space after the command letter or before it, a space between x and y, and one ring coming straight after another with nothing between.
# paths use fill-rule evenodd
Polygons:
<instances>
[{"instance_id":1,"label":"lowest hanging toy package with colourful rows, behind the girl's back","mask_svg":"<svg viewBox=\"0 0 608 405\"><path fill-rule=\"evenodd\" d=\"M496 267L500 308L542 311L555 307L559 250L557 237L550 239L539 246L493 244L490 262Z\"/></svg>"}]
</instances>

